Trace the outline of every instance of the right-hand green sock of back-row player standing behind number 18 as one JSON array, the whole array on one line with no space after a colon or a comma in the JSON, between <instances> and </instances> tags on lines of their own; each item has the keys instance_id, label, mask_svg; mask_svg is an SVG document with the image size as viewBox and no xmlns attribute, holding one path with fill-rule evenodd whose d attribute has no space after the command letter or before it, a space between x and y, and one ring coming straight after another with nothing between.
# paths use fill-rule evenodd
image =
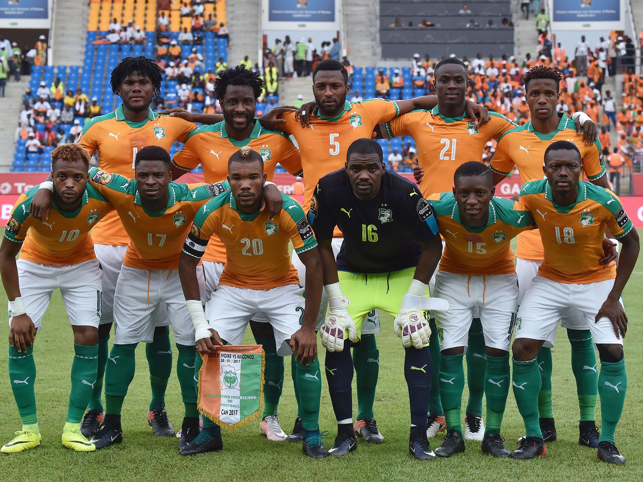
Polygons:
<instances>
[{"instance_id":1,"label":"right-hand green sock of back-row player standing behind number 18","mask_svg":"<svg viewBox=\"0 0 643 482\"><path fill-rule=\"evenodd\" d=\"M567 337L572 345L572 371L576 379L581 421L594 420L599 375L592 333L590 330L567 330Z\"/></svg>"}]
</instances>

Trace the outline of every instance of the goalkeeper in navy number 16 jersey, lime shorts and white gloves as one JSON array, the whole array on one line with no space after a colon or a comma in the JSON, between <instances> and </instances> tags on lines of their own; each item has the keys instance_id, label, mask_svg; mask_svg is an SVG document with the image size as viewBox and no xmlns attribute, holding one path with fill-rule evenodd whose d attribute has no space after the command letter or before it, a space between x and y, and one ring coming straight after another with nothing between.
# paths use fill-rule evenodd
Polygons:
<instances>
[{"instance_id":1,"label":"goalkeeper in navy number 16 jersey, lime shorts and white gloves","mask_svg":"<svg viewBox=\"0 0 643 482\"><path fill-rule=\"evenodd\" d=\"M367 313L378 308L395 317L395 334L406 350L409 451L419 460L435 458L426 438L433 362L428 348L431 330L422 308L445 307L440 307L442 300L422 300L442 254L430 204L412 183L386 172L376 141L358 139L347 150L345 168L320 179L308 217L320 245L330 308L320 327L338 424L329 453L345 456L357 448L350 347L358 343ZM337 261L331 246L334 226L344 235ZM367 362L379 364L379 359L355 360Z\"/></svg>"}]
</instances>

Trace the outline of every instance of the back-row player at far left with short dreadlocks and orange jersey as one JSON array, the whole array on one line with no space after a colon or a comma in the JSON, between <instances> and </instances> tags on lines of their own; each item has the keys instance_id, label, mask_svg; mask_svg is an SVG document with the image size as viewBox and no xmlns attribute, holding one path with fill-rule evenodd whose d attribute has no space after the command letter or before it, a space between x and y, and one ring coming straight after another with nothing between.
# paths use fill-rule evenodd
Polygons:
<instances>
[{"instance_id":1,"label":"back-row player at far left with short dreadlocks and orange jersey","mask_svg":"<svg viewBox=\"0 0 643 482\"><path fill-rule=\"evenodd\" d=\"M133 178L134 159L141 148L158 145L170 150L175 141L185 142L188 134L196 127L193 122L161 116L150 109L152 98L158 94L161 82L161 68L154 60L142 56L123 58L112 71L112 91L122 98L123 103L116 107L116 111L89 121L77 140L89 154L96 153L100 170ZM50 211L51 193L41 189L32 201L31 212L38 219L47 219ZM92 229L92 237L96 258L103 269L103 310L98 327L98 379L81 426L81 431L87 438L95 435L104 418L101 393L109 354L109 332L114 322L114 290L130 240L116 211L96 224ZM157 314L154 341L145 346L152 387L147 421L152 426L153 433L159 436L174 435L174 428L165 411L165 389L172 372L172 345L168 324L163 304ZM177 371L192 371L192 368L185 367L194 366L194 352L190 355L189 350L185 350L183 346L177 345L177 348ZM124 396L125 393L113 393L109 386L105 386L105 397ZM194 426L194 420L198 426L196 398L194 404L186 405L185 417L188 426Z\"/></svg>"}]
</instances>

